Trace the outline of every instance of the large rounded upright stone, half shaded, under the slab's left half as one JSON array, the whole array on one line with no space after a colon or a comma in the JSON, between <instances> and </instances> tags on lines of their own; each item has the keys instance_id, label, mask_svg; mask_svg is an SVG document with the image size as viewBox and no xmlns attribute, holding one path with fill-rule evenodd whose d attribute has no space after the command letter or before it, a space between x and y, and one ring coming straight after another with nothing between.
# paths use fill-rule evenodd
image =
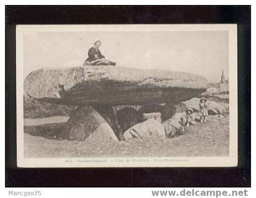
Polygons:
<instances>
[{"instance_id":1,"label":"large rounded upright stone, half shaded, under the slab's left half","mask_svg":"<svg viewBox=\"0 0 256 198\"><path fill-rule=\"evenodd\" d=\"M92 107L78 107L66 123L63 134L74 140L118 140L105 119Z\"/></svg>"}]
</instances>

